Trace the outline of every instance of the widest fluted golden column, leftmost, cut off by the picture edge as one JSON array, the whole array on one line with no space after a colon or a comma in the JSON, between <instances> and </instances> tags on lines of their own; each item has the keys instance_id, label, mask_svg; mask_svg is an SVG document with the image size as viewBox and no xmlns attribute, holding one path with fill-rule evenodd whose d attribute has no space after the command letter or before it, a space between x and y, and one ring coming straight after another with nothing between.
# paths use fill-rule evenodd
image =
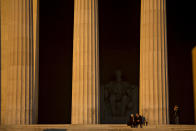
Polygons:
<instances>
[{"instance_id":1,"label":"widest fluted golden column, leftmost, cut off by the picture edge","mask_svg":"<svg viewBox=\"0 0 196 131\"><path fill-rule=\"evenodd\" d=\"M1 0L1 124L38 117L38 1Z\"/></svg>"}]
</instances>

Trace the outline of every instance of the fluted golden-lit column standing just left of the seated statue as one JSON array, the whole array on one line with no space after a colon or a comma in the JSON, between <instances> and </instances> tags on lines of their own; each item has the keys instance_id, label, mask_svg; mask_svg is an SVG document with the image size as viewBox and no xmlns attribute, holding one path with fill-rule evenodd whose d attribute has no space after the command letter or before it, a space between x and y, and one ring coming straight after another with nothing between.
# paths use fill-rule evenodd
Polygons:
<instances>
[{"instance_id":1,"label":"fluted golden-lit column standing just left of the seated statue","mask_svg":"<svg viewBox=\"0 0 196 131\"><path fill-rule=\"evenodd\" d=\"M99 123L98 0L75 0L72 124Z\"/></svg>"}]
</instances>

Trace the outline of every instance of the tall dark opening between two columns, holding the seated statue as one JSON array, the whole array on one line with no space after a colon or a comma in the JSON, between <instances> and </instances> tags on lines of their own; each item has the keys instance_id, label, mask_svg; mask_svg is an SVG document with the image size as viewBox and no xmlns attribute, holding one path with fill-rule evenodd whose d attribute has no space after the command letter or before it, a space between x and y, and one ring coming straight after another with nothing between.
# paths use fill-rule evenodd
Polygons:
<instances>
[{"instance_id":1,"label":"tall dark opening between two columns, holding the seated statue","mask_svg":"<svg viewBox=\"0 0 196 131\"><path fill-rule=\"evenodd\" d=\"M138 112L140 1L99 0L99 31L101 123L125 124L127 113ZM120 82L117 70L122 72ZM129 100L132 91L136 97Z\"/></svg>"}]
</instances>

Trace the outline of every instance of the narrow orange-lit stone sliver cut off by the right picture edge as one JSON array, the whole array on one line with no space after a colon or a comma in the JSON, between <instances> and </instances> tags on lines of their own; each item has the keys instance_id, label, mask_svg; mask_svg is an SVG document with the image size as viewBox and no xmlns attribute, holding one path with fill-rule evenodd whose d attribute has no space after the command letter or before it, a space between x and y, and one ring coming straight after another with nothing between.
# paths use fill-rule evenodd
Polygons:
<instances>
[{"instance_id":1,"label":"narrow orange-lit stone sliver cut off by the right picture edge","mask_svg":"<svg viewBox=\"0 0 196 131\"><path fill-rule=\"evenodd\" d=\"M194 114L196 124L196 46L192 50L192 67L193 67L193 96L194 96Z\"/></svg>"}]
</instances>

